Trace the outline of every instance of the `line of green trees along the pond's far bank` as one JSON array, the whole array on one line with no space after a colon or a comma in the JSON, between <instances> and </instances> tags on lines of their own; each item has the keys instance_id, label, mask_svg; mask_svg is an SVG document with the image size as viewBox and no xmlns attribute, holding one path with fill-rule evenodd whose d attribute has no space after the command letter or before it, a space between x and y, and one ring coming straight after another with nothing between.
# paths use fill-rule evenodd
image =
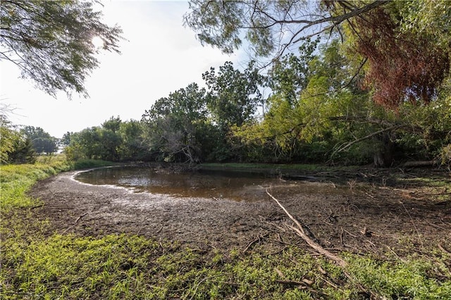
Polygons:
<instances>
[{"instance_id":1,"label":"line of green trees along the pond's far bank","mask_svg":"<svg viewBox=\"0 0 451 300\"><path fill-rule=\"evenodd\" d=\"M65 151L111 161L450 163L449 79L430 104L390 110L362 89L357 67L338 39L306 41L266 75L254 63L237 70L226 62L202 75L206 87L158 99L141 120L112 117L66 134Z\"/></svg>"}]
</instances>

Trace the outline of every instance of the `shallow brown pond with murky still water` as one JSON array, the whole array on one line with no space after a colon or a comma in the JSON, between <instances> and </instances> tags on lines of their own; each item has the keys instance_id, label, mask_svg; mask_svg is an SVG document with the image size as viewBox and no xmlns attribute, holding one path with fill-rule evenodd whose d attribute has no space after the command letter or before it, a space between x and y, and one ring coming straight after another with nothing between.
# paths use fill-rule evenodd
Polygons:
<instances>
[{"instance_id":1,"label":"shallow brown pond with murky still water","mask_svg":"<svg viewBox=\"0 0 451 300\"><path fill-rule=\"evenodd\" d=\"M113 185L133 192L150 192L181 197L258 201L266 196L266 187L286 187L283 181L263 173L230 170L198 170L168 173L149 167L99 168L79 173L76 180L91 185Z\"/></svg>"}]
</instances>

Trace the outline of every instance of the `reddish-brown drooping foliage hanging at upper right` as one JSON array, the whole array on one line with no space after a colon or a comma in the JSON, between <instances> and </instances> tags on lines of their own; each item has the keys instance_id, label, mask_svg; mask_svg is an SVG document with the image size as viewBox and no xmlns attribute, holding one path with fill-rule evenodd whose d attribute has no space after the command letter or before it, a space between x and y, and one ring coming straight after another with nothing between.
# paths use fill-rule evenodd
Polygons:
<instances>
[{"instance_id":1,"label":"reddish-brown drooping foliage hanging at upper right","mask_svg":"<svg viewBox=\"0 0 451 300\"><path fill-rule=\"evenodd\" d=\"M403 101L428 103L450 70L447 49L438 49L427 37L400 32L393 18L377 8L350 23L357 34L356 51L368 58L364 88L387 108Z\"/></svg>"}]
</instances>

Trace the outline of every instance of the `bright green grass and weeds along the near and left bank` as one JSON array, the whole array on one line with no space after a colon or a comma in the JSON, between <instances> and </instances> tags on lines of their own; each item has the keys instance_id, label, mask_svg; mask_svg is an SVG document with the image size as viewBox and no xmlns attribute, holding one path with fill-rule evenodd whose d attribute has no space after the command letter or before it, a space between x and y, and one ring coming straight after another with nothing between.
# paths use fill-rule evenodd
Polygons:
<instances>
[{"instance_id":1,"label":"bright green grass and weeds along the near and left bank","mask_svg":"<svg viewBox=\"0 0 451 300\"><path fill-rule=\"evenodd\" d=\"M92 167L92 165L89 165ZM37 180L70 170L64 161L1 167L0 299L447 299L451 255L398 258L342 253L338 268L300 246L255 243L227 253L139 236L46 235L49 221L27 196ZM249 237L250 238L250 237ZM345 276L350 274L352 280Z\"/></svg>"}]
</instances>

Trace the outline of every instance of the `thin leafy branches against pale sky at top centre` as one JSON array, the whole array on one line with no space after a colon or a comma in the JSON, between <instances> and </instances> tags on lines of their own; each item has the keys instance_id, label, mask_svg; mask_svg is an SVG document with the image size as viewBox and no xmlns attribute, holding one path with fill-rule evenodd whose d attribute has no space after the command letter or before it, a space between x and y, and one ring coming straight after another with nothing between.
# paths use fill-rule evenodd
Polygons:
<instances>
[{"instance_id":1,"label":"thin leafy branches against pale sky at top centre","mask_svg":"<svg viewBox=\"0 0 451 300\"><path fill-rule=\"evenodd\" d=\"M278 57L292 45L388 3L342 1L349 9L336 13L327 9L328 2L333 1L190 0L184 20L202 44L230 54L246 39L254 55Z\"/></svg>"}]
</instances>

